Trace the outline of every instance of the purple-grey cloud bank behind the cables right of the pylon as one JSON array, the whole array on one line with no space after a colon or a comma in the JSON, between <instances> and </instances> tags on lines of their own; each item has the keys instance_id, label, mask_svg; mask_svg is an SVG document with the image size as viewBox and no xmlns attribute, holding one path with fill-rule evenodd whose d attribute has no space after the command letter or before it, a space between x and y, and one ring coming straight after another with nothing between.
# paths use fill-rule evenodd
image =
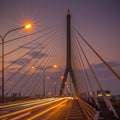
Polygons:
<instances>
[{"instance_id":1,"label":"purple-grey cloud bank behind the cables right of the pylon","mask_svg":"<svg viewBox=\"0 0 120 120\"><path fill-rule=\"evenodd\" d=\"M120 74L120 63L116 61L109 61L107 62L111 68L117 73ZM98 80L100 81L114 81L118 80L116 76L103 64L103 63L98 63L98 64L92 64L91 67L93 68L93 71L95 75L97 76ZM89 68L86 68L85 71L90 76L90 79L93 81L93 75L92 72ZM81 70L75 71L76 77L80 78L81 77Z\"/></svg>"}]
</instances>

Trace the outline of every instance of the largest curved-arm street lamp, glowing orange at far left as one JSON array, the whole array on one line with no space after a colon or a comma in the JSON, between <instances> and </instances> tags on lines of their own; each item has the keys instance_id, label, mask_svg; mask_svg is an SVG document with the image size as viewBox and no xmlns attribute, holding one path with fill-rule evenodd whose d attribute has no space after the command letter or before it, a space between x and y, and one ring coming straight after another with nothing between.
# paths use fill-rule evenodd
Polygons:
<instances>
[{"instance_id":1,"label":"largest curved-arm street lamp, glowing orange at far left","mask_svg":"<svg viewBox=\"0 0 120 120\"><path fill-rule=\"evenodd\" d=\"M0 35L0 38L2 40L2 99L4 99L4 41L5 41L5 38L9 33L13 32L13 31L24 29L24 28L25 29L30 29L31 27L32 27L32 25L30 23L25 24L21 27L9 30L3 36Z\"/></svg>"}]
</instances>

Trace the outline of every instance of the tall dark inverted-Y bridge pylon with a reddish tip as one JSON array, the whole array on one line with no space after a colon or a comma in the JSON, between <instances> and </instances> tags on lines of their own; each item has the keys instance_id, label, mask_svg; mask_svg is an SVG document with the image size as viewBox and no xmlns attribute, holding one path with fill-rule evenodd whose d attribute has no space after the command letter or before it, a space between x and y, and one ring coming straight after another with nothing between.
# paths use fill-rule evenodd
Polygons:
<instances>
[{"instance_id":1,"label":"tall dark inverted-Y bridge pylon with a reddish tip","mask_svg":"<svg viewBox=\"0 0 120 120\"><path fill-rule=\"evenodd\" d=\"M73 71L72 65L71 65L71 13L70 13L70 10L67 11L66 17L67 17L67 57L66 57L66 69L65 69L65 73L64 73L64 78L63 78L62 85L60 88L60 95L63 94L65 83L67 81L67 76L68 76L68 73L70 73L76 95L78 96L79 91L78 91L76 79L74 76L74 71Z\"/></svg>"}]
</instances>

